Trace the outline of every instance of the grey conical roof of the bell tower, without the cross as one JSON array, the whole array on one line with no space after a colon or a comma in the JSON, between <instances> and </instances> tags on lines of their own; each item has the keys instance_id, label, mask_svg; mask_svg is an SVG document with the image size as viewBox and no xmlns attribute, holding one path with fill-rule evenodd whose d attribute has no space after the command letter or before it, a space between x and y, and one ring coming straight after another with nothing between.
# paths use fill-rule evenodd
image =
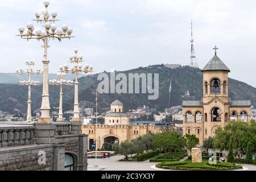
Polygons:
<instances>
[{"instance_id":1,"label":"grey conical roof of the bell tower, without the cross","mask_svg":"<svg viewBox=\"0 0 256 182\"><path fill-rule=\"evenodd\" d=\"M229 68L220 60L220 58L217 55L214 55L213 58L205 65L205 67L202 69L203 71L228 71L230 72Z\"/></svg>"}]
</instances>

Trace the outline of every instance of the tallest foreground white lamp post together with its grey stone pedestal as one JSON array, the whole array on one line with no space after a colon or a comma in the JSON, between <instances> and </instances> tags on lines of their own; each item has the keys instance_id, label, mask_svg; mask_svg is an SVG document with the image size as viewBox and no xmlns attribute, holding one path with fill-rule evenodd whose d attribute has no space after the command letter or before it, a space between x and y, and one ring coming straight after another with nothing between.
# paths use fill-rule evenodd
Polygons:
<instances>
[{"instance_id":1,"label":"tallest foreground white lamp post together with its grey stone pedestal","mask_svg":"<svg viewBox=\"0 0 256 182\"><path fill-rule=\"evenodd\" d=\"M38 137L36 138L36 143L55 143L55 126L52 124L51 117L49 115L50 105L49 105L49 89L48 89L48 64L49 59L47 57L47 51L49 48L49 40L63 40L70 39L73 36L72 28L63 24L61 28L57 28L55 21L57 21L57 12L52 11L51 16L48 12L49 1L44 1L44 8L42 11L36 11L34 19L38 23L42 23L43 31L41 29L34 31L34 25L32 23L27 24L27 32L23 26L19 27L20 36L22 39L35 39L42 40L44 48L43 56L43 93L42 93L42 105L41 112L42 115L39 118L38 125L36 125L36 133Z\"/></svg>"}]
</instances>

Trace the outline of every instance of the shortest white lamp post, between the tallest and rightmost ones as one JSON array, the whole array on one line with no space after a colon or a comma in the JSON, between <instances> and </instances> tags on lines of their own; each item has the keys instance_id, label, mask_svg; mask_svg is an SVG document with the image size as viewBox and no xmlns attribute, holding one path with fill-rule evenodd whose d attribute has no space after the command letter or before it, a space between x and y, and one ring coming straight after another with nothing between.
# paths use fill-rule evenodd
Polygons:
<instances>
[{"instance_id":1,"label":"shortest white lamp post, between the tallest and rightmost ones","mask_svg":"<svg viewBox=\"0 0 256 182\"><path fill-rule=\"evenodd\" d=\"M73 80L65 80L64 78L66 77L65 73L58 73L57 77L59 80L49 80L50 85L56 85L60 86L60 104L59 104L59 117L57 118L57 122L63 122L63 109L62 109L62 97L63 97L63 86L70 86L73 85Z\"/></svg>"}]
</instances>

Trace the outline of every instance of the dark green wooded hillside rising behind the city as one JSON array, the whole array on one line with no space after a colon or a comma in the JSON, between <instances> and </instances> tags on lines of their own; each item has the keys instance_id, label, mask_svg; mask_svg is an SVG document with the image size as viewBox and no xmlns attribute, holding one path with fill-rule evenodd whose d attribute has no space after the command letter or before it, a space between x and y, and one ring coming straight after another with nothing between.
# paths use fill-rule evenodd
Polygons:
<instances>
[{"instance_id":1,"label":"dark green wooded hillside rising behind the city","mask_svg":"<svg viewBox=\"0 0 256 182\"><path fill-rule=\"evenodd\" d=\"M118 72L116 72L117 74ZM159 98L148 100L148 94L99 94L100 107L108 107L115 99L125 105L125 109L136 109L137 106L149 105L163 110L168 107L168 89L170 77L172 77L172 92L170 106L181 105L185 99L184 92L189 93L195 100L199 100L203 93L203 75L198 68L181 67L176 69L164 68L163 65L154 65L145 68L123 71L128 73L159 73ZM108 73L109 74L109 73ZM79 100L95 101L95 90L97 87L97 74L79 78ZM116 82L117 83L117 82ZM27 109L27 88L14 84L0 84L0 110L13 111ZM64 110L73 108L73 86L65 87L63 90ZM32 88L32 110L40 108L42 86ZM49 86L50 103L52 106L59 105L59 88ZM229 96L232 100L251 100L256 105L256 88L244 82L229 78ZM189 98L191 99L191 98Z\"/></svg>"}]
</instances>

